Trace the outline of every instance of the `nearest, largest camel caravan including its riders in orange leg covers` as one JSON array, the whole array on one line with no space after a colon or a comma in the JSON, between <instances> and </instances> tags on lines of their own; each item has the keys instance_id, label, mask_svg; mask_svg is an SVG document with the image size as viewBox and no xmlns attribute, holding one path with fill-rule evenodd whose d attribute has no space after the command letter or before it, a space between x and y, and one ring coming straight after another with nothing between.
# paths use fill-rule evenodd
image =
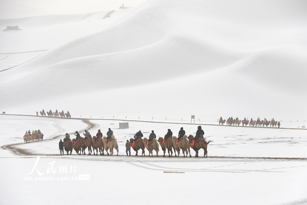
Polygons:
<instances>
[{"instance_id":1,"label":"nearest, largest camel caravan including its riders in orange leg covers","mask_svg":"<svg viewBox=\"0 0 307 205\"><path fill-rule=\"evenodd\" d=\"M99 156L104 156L104 152L106 152L107 156L112 156L114 154L114 150L116 150L118 156L119 146L117 144L115 136L113 135L113 131L110 128L106 136L103 136L103 134L100 132L100 129L93 137L87 130L85 130L84 132L84 137L81 137L80 134L76 131L76 138L73 138L72 140L70 139L70 135L66 133L65 138L63 140L63 145L64 150L67 152L67 155L71 155L72 150L75 150L77 155L85 155L87 150L88 155L91 155L93 153L94 155L99 154ZM193 135L185 135L185 131L183 130L183 128L181 128L181 130L179 131L178 138L176 136L173 136L173 133L170 129L168 129L168 133L164 136L164 138L159 137L158 140L154 131L152 131L149 138L142 137L143 134L140 130L134 135L134 138L130 138L130 140L127 140L126 153L128 149L130 153L131 147L136 153L135 156L145 156L146 148L149 152L148 156L153 157L153 154L155 154L156 157L158 157L160 144L164 157L166 150L169 154L168 157L173 156L173 151L175 157L179 157L181 151L184 157L192 157L190 148L192 148L196 152L195 157L198 157L198 151L200 149L204 150L204 157L208 157L207 146L210 142L207 142L204 138L204 131L201 129L201 126L198 126L198 130L196 132L195 137ZM141 153L138 153L138 151L142 151L142 155Z\"/></svg>"}]
</instances>

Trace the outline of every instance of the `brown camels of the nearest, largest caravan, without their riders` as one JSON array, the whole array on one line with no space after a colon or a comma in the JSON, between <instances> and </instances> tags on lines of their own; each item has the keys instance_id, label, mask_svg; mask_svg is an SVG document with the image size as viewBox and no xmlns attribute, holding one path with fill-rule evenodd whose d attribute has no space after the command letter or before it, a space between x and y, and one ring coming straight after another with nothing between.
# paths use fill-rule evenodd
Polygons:
<instances>
[{"instance_id":1,"label":"brown camels of the nearest, largest caravan, without their riders","mask_svg":"<svg viewBox=\"0 0 307 205\"><path fill-rule=\"evenodd\" d=\"M109 155L112 156L114 153L113 149L115 149L117 151L117 156L118 156L119 147L115 139L115 136L112 135L107 143L106 143L106 138L107 138L106 136L103 136L103 137L100 136L99 139L97 139L96 136L91 137L90 135L89 137L87 137L87 139L84 139L83 137L79 137L78 140L76 140L75 138L71 140L69 135L66 134L63 140L64 150L67 152L67 155L72 154L72 149L74 149L78 155L81 155L81 154L85 155L85 150L87 148L88 155L91 155L92 149L93 149L94 155L98 155L98 150L99 150L100 156L104 156L104 150L105 150L107 152L107 156ZM163 143L163 137L159 137L158 140L156 140L156 138L153 138L153 140L150 141L149 144L147 144L148 143L147 137L144 137L142 139L141 136L138 136L138 140L134 143L134 146L132 146L134 139L133 138L130 139L130 146L136 152L135 156L138 156L138 150L140 149L142 150L142 156L145 156L145 148L146 148L149 152L149 156L151 154L151 156L153 157L153 150L154 150L156 151L157 157L158 157L159 144L160 144L162 151L164 153L163 157L165 157L166 150L168 151L169 157L173 156L173 150L175 152L176 157L177 157L176 152L178 153L178 157L179 157L180 150L182 150L184 157L187 157L188 153L189 153L189 156L192 157L190 148L192 148L196 152L195 157L198 157L198 151L200 149L204 149L204 157L208 157L207 147L210 141L206 142L206 139L204 139L204 136L200 135L200 137L198 138L199 140L195 141L194 145L191 145L193 142L193 138L194 138L193 135L189 135L189 136L184 135L180 140L178 140L178 144L177 144L176 136L165 139L164 143ZM95 154L95 150L96 150L96 154ZM110 151L110 154L108 151Z\"/></svg>"}]
</instances>

